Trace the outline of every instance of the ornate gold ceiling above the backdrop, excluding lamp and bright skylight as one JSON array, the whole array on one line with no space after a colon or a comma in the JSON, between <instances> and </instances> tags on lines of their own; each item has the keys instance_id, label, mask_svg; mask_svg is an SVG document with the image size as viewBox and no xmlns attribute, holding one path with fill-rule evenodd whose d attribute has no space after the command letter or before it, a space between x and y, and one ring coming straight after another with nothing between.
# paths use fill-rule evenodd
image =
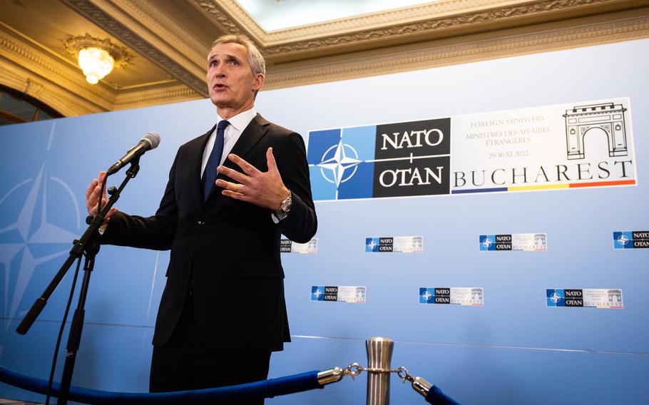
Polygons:
<instances>
[{"instance_id":1,"label":"ornate gold ceiling above the backdrop, excluding lamp and bright skylight","mask_svg":"<svg viewBox=\"0 0 649 405\"><path fill-rule=\"evenodd\" d=\"M246 34L265 89L649 37L649 0L442 0L264 31L234 0L0 0L0 84L64 116L208 96L205 57ZM64 42L90 34L131 54L97 85Z\"/></svg>"}]
</instances>

